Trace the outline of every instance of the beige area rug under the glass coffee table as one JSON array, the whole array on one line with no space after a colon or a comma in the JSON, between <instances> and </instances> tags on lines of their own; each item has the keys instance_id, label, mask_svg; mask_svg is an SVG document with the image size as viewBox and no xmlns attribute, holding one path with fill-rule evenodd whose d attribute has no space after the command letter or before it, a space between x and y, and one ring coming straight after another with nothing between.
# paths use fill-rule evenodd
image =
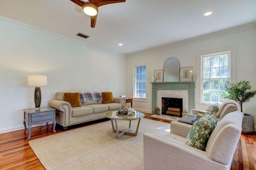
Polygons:
<instances>
[{"instance_id":1,"label":"beige area rug under the glass coffee table","mask_svg":"<svg viewBox=\"0 0 256 170\"><path fill-rule=\"evenodd\" d=\"M132 130L137 122L132 121ZM120 120L118 127L128 127L128 123ZM111 122L105 121L35 139L29 145L46 170L139 170L143 169L146 132L166 135L170 123L143 118L136 137L124 134L117 138Z\"/></svg>"}]
</instances>

